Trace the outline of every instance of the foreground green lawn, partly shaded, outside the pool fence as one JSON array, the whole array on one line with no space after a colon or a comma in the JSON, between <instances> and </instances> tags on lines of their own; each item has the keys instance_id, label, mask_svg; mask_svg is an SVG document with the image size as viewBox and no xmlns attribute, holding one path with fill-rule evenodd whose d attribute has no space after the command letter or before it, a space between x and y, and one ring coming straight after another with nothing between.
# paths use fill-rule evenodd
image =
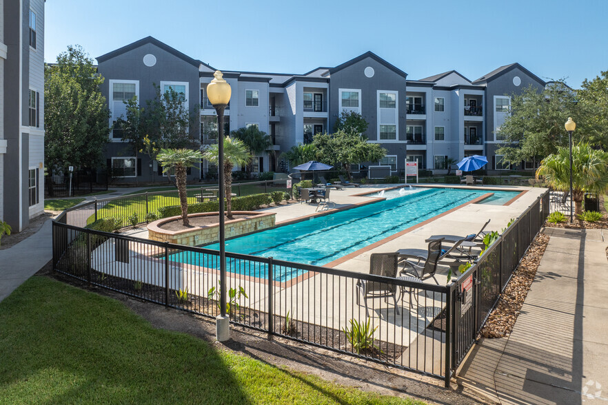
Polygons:
<instances>
[{"instance_id":1,"label":"foreground green lawn, partly shaded, outside the pool fence","mask_svg":"<svg viewBox=\"0 0 608 405\"><path fill-rule=\"evenodd\" d=\"M0 324L6 404L422 404L216 350L41 276L0 303Z\"/></svg>"}]
</instances>

